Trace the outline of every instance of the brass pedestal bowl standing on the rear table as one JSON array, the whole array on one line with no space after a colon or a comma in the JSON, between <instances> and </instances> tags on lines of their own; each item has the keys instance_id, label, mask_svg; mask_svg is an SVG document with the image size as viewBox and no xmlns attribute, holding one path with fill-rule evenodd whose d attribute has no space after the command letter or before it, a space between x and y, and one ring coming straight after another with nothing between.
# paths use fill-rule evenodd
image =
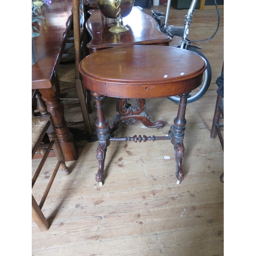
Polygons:
<instances>
[{"instance_id":1,"label":"brass pedestal bowl standing on the rear table","mask_svg":"<svg viewBox=\"0 0 256 256\"><path fill-rule=\"evenodd\" d=\"M130 14L134 6L134 0L97 0L97 5L106 18L116 18L117 24L110 28L112 33L122 33L129 28L121 25L121 17Z\"/></svg>"}]
</instances>

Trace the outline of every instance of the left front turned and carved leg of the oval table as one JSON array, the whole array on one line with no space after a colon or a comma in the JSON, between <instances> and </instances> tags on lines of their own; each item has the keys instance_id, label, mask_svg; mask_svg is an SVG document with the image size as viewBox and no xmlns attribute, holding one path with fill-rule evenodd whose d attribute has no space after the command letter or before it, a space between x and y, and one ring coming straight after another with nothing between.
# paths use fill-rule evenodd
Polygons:
<instances>
[{"instance_id":1,"label":"left front turned and carved leg of the oval table","mask_svg":"<svg viewBox=\"0 0 256 256\"><path fill-rule=\"evenodd\" d=\"M106 148L110 145L110 128L108 126L108 120L105 119L103 113L102 100L105 96L91 92L92 100L95 101L95 107L97 111L97 120L95 122L97 137L98 137L98 147L96 152L96 158L99 162L98 173L96 174L96 182L102 186L102 181L104 178L104 163L106 156Z\"/></svg>"}]
</instances>

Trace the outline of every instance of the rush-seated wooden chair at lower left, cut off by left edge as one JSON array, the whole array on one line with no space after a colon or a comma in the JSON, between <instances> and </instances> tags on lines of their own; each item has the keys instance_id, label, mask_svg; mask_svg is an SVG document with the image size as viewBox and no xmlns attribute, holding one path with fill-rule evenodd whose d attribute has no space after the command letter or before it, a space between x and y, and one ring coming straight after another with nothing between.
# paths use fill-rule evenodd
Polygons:
<instances>
[{"instance_id":1,"label":"rush-seated wooden chair at lower left, cut off by left edge","mask_svg":"<svg viewBox=\"0 0 256 256\"><path fill-rule=\"evenodd\" d=\"M50 188L52 186L52 183L54 181L54 178L57 174L57 171L59 167L62 168L62 174L63 175L69 175L69 169L66 166L65 159L61 150L61 146L58 140L58 137L55 132L54 124L52 122L51 114L48 113L45 102L41 99L41 94L39 92L36 92L36 96L34 96L37 101L37 109L40 111L40 116L32 116L32 159L33 156L36 153L36 150L44 138L44 136L47 134L50 140L50 144L42 157L40 164L32 178L32 189L35 185L35 182L41 172L42 167L44 166L47 157L53 148L53 151L55 153L55 156L57 158L57 164L55 169L53 170L52 176L48 182L48 185L45 189L44 195L42 196L40 203L38 204L33 197L32 194L32 218L34 222L37 224L39 229L41 231L48 230L49 229L49 222L45 218L44 214L42 213L41 209L44 205L46 198L48 196L48 193L50 191ZM33 99L33 97L32 97Z\"/></svg>"}]
</instances>

